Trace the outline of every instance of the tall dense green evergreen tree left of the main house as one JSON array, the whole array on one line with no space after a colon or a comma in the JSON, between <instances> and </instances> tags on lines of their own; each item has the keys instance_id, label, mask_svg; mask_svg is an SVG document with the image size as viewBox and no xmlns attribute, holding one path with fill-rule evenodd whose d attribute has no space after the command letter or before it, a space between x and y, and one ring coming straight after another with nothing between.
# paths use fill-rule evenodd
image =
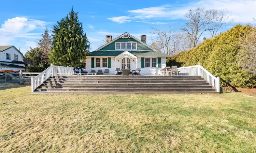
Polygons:
<instances>
[{"instance_id":1,"label":"tall dense green evergreen tree left of the main house","mask_svg":"<svg viewBox=\"0 0 256 153\"><path fill-rule=\"evenodd\" d=\"M78 13L73 11L53 26L53 47L49 58L54 65L77 67L86 58L90 43L84 34Z\"/></svg>"}]
</instances>

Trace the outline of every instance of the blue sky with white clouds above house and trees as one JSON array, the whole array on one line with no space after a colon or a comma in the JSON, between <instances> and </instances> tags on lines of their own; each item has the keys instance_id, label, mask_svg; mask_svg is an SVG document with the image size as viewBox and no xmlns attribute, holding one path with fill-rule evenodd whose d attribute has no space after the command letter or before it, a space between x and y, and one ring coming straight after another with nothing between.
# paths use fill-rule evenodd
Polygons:
<instances>
[{"instance_id":1,"label":"blue sky with white clouds above house and trees","mask_svg":"<svg viewBox=\"0 0 256 153\"><path fill-rule=\"evenodd\" d=\"M186 22L184 14L197 7L230 11L233 23L220 32L239 23L253 23L256 18L256 0L0 0L0 45L20 47L25 54L29 47L36 47L35 40L44 29L51 29L72 6L79 12L91 51L102 44L105 35L117 37L124 32L137 38L146 34L150 43L149 37L154 37L150 27L161 30L168 25L179 27Z\"/></svg>"}]
</instances>

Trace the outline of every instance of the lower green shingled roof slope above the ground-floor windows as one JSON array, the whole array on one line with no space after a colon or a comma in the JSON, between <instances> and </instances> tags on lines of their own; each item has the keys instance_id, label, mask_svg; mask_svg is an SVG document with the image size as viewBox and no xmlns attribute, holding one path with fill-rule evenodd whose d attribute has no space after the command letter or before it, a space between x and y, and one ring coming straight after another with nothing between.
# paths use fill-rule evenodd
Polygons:
<instances>
[{"instance_id":1,"label":"lower green shingled roof slope above the ground-floor windows","mask_svg":"<svg viewBox=\"0 0 256 153\"><path fill-rule=\"evenodd\" d=\"M93 51L90 52L87 56L117 56L125 51L123 50L116 50L116 51ZM131 50L128 51L134 56L156 56L156 57L171 57L171 55L167 55L161 52L156 52L156 51L139 51L139 50Z\"/></svg>"}]
</instances>

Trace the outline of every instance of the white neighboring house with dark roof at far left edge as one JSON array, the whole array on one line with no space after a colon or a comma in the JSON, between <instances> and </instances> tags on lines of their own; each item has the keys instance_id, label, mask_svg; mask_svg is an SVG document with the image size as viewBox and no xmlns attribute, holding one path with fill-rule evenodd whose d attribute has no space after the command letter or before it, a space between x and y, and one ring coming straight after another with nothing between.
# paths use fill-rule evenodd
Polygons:
<instances>
[{"instance_id":1,"label":"white neighboring house with dark roof at far left edge","mask_svg":"<svg viewBox=\"0 0 256 153\"><path fill-rule=\"evenodd\" d=\"M14 46L0 46L0 72L24 71L24 56Z\"/></svg>"}]
</instances>

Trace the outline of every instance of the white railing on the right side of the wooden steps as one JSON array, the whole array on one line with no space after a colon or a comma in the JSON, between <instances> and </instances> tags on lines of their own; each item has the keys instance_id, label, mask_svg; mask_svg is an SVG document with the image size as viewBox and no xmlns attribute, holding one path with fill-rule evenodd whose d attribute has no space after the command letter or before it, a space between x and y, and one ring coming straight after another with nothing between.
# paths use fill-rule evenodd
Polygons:
<instances>
[{"instance_id":1,"label":"white railing on the right side of the wooden steps","mask_svg":"<svg viewBox=\"0 0 256 153\"><path fill-rule=\"evenodd\" d=\"M219 77L215 77L200 64L196 66L180 67L178 68L179 75L200 75L207 82L209 82L217 92L219 92Z\"/></svg>"}]
</instances>

